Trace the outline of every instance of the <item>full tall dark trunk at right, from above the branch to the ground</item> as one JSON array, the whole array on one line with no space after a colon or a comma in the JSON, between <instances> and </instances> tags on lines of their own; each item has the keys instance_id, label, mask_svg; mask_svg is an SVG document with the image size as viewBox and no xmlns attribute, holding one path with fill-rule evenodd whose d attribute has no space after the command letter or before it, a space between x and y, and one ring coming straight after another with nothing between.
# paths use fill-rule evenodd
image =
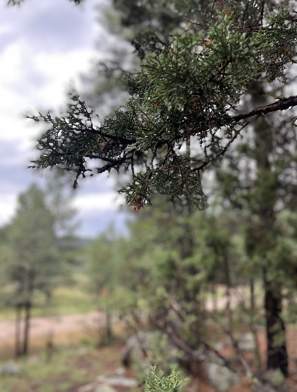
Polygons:
<instances>
[{"instance_id":1,"label":"full tall dark trunk at right, from above the branch to the ground","mask_svg":"<svg viewBox=\"0 0 297 392\"><path fill-rule=\"evenodd\" d=\"M265 97L263 87L256 83L254 86L254 103L257 105ZM284 376L288 376L288 354L286 351L285 327L281 318L282 310L282 282L274 282L268 277L268 269L273 269L269 260L266 260L268 252L277 244L279 227L276 223L275 204L278 200L277 189L279 179L277 172L272 167L272 157L275 154L274 138L271 124L265 118L258 118L255 123L255 154L257 161L258 179L254 200L257 207L254 212L259 217L258 225L254 226L254 241L256 252L265 261L263 268L263 283L265 289L265 319L267 336L267 368L279 368Z\"/></svg>"}]
</instances>

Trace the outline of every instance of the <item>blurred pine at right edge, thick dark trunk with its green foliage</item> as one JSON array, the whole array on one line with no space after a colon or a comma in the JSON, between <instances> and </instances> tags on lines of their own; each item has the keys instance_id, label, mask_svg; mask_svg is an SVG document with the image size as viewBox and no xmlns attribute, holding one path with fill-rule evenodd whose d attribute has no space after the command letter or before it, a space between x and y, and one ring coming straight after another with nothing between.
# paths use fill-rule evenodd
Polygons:
<instances>
[{"instance_id":1,"label":"blurred pine at right edge, thick dark trunk with its green foliage","mask_svg":"<svg viewBox=\"0 0 297 392\"><path fill-rule=\"evenodd\" d=\"M252 101L267 100L261 85L253 83ZM289 115L290 116L290 115ZM249 134L225 156L224 170L217 171L223 200L232 206L245 227L248 265L261 276L265 291L267 367L288 375L283 288L295 276L295 256L286 242L282 213L294 211L296 134L288 115L258 118ZM293 118L291 119L293 121Z\"/></svg>"}]
</instances>

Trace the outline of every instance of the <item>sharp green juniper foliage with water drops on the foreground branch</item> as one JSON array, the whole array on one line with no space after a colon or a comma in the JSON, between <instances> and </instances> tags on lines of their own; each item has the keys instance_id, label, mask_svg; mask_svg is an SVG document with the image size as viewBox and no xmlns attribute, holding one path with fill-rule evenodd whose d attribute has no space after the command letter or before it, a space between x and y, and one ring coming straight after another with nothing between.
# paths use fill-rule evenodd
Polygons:
<instances>
[{"instance_id":1,"label":"sharp green juniper foliage with water drops on the foreground branch","mask_svg":"<svg viewBox=\"0 0 297 392\"><path fill-rule=\"evenodd\" d=\"M273 2L229 0L214 2L212 9L202 3L193 2L183 33L161 39L150 31L135 37L141 70L123 74L131 98L112 118L96 125L96 114L77 95L61 118L27 116L50 125L38 141L40 158L32 167L74 171L76 187L92 171L89 161L97 160L97 173L131 173L119 192L135 209L151 204L151 192L204 208L203 169L220 164L247 120L297 105L297 96L243 113L239 105L251 80L288 82L297 16L288 2L279 2L278 13L271 12ZM149 4L142 4L147 11ZM187 20L184 7L172 9ZM193 22L200 21L199 7L209 17L205 27Z\"/></svg>"}]
</instances>

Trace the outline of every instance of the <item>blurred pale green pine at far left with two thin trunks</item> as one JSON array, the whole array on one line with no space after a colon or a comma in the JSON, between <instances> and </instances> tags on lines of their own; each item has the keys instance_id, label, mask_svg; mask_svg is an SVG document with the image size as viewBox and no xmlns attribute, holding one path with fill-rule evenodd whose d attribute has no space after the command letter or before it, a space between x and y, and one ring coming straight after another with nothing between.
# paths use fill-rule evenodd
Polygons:
<instances>
[{"instance_id":1,"label":"blurred pale green pine at far left with two thin trunks","mask_svg":"<svg viewBox=\"0 0 297 392\"><path fill-rule=\"evenodd\" d=\"M50 292L54 279L61 273L60 257L55 246L54 216L45 203L45 194L32 185L20 195L18 210L11 224L5 228L5 277L13 283L9 298L16 309L16 356L29 349L31 311L36 291ZM59 268L60 267L60 268ZM24 312L23 343L20 341L20 322Z\"/></svg>"}]
</instances>

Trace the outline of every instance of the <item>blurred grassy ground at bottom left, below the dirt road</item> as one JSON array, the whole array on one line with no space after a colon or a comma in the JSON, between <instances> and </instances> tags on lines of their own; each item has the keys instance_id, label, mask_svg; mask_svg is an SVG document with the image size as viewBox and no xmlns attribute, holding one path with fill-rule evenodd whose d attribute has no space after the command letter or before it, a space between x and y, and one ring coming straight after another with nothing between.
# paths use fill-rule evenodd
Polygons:
<instances>
[{"instance_id":1,"label":"blurred grassy ground at bottom left, below the dirt road","mask_svg":"<svg viewBox=\"0 0 297 392\"><path fill-rule=\"evenodd\" d=\"M0 363L2 367L4 363ZM121 345L97 349L94 345L60 347L47 360L46 353L18 361L18 376L0 376L1 392L66 392L77 390L100 374L121 366Z\"/></svg>"}]
</instances>

